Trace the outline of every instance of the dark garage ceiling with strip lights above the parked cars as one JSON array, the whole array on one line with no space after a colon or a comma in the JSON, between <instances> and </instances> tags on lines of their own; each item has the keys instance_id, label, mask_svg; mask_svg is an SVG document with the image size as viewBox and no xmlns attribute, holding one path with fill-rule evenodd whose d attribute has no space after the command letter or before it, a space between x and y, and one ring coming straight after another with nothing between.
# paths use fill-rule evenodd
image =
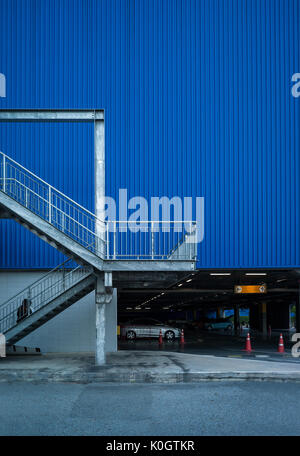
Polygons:
<instances>
[{"instance_id":1,"label":"dark garage ceiling with strip lights above the parked cars","mask_svg":"<svg viewBox=\"0 0 300 456\"><path fill-rule=\"evenodd\" d=\"M196 271L182 274L142 273L116 277L119 311L193 310L232 308L234 304L248 307L264 301L295 300L298 296L300 270L227 270ZM267 293L258 295L234 294L235 285L267 284Z\"/></svg>"}]
</instances>

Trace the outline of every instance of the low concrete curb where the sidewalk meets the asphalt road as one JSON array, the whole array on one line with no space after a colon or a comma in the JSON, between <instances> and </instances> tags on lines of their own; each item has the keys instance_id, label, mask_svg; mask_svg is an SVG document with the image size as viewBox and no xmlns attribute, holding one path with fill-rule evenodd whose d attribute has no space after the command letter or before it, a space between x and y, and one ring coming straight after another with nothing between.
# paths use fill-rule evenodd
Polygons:
<instances>
[{"instance_id":1,"label":"low concrete curb where the sidewalk meets the asphalt road","mask_svg":"<svg viewBox=\"0 0 300 456\"><path fill-rule=\"evenodd\" d=\"M38 382L38 383L198 383L203 381L281 381L300 382L300 373L278 372L74 372L51 371L42 369L2 370L0 382Z\"/></svg>"}]
</instances>

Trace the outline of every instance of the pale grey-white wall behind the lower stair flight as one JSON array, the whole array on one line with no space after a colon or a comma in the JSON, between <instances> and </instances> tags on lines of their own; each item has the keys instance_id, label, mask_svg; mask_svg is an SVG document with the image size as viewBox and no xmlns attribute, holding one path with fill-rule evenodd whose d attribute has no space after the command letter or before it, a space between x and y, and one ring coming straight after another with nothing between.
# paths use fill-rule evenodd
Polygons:
<instances>
[{"instance_id":1,"label":"pale grey-white wall behind the lower stair flight","mask_svg":"<svg viewBox=\"0 0 300 456\"><path fill-rule=\"evenodd\" d=\"M26 286L38 280L45 272L0 272L0 305ZM112 308L113 320L116 320L117 294L114 290ZM113 310L113 309L112 309ZM113 327L109 324L109 332ZM117 337L110 334L108 351L114 351ZM115 343L114 343L115 342ZM95 292L82 298L68 309L33 331L17 345L39 347L42 352L88 352L95 351Z\"/></svg>"}]
</instances>

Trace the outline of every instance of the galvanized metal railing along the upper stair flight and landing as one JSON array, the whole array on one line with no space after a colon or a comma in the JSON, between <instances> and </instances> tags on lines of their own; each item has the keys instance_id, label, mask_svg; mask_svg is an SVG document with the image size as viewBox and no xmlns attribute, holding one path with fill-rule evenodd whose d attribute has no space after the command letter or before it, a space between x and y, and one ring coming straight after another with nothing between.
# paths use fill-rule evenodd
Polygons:
<instances>
[{"instance_id":1,"label":"galvanized metal railing along the upper stair flight and landing","mask_svg":"<svg viewBox=\"0 0 300 456\"><path fill-rule=\"evenodd\" d=\"M195 222L102 221L1 151L0 190L102 259L194 258L193 248L181 248L181 245L186 239L185 234L188 233L186 224L192 230Z\"/></svg>"}]
</instances>

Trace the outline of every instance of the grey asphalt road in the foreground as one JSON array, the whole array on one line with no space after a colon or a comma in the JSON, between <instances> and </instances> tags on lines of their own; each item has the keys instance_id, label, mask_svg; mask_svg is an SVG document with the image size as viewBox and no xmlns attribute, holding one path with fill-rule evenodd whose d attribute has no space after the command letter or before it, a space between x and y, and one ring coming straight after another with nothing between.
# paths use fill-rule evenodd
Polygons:
<instances>
[{"instance_id":1,"label":"grey asphalt road in the foreground","mask_svg":"<svg viewBox=\"0 0 300 456\"><path fill-rule=\"evenodd\" d=\"M299 383L0 383L0 435L300 435Z\"/></svg>"}]
</instances>

